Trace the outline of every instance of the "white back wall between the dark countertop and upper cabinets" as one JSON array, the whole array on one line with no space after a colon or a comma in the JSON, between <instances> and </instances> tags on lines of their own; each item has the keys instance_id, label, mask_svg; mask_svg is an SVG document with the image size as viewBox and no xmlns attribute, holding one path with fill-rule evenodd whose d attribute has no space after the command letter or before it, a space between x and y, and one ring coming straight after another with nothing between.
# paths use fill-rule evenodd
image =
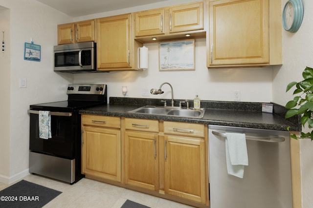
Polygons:
<instances>
[{"instance_id":1,"label":"white back wall between the dark countertop and upper cabinets","mask_svg":"<svg viewBox=\"0 0 313 208\"><path fill-rule=\"evenodd\" d=\"M210 69L206 67L205 39L196 39L196 69L193 71L159 71L158 43L145 44L149 49L149 69L146 71L109 72L103 74L75 74L75 83L106 83L109 97L123 97L122 86L128 86L128 97L141 98L142 88L158 88L161 83L173 86L174 99L193 99L196 93L202 100L233 101L234 91L241 92L241 100L271 102L272 69L236 68ZM164 94L145 98L171 98L168 85Z\"/></svg>"}]
</instances>

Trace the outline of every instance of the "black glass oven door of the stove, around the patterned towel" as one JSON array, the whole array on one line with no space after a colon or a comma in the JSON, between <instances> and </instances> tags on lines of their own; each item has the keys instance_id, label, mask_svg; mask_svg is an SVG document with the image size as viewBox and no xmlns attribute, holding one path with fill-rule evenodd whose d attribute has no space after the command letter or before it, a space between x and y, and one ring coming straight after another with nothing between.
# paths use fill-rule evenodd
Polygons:
<instances>
[{"instance_id":1,"label":"black glass oven door of the stove, around the patterned towel","mask_svg":"<svg viewBox=\"0 0 313 208\"><path fill-rule=\"evenodd\" d=\"M51 116L51 138L39 138L38 114L30 114L29 149L32 151L64 157L74 158L76 139L79 138L75 130L77 115Z\"/></svg>"}]
</instances>

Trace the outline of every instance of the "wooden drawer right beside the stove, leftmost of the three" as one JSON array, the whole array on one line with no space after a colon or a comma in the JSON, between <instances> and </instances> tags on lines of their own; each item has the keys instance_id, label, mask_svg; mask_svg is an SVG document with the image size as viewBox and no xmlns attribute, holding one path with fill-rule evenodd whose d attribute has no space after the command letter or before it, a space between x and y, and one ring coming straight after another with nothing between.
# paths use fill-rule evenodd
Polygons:
<instances>
[{"instance_id":1,"label":"wooden drawer right beside the stove, leftmost of the three","mask_svg":"<svg viewBox=\"0 0 313 208\"><path fill-rule=\"evenodd\" d=\"M82 124L121 128L121 119L112 116L82 115Z\"/></svg>"}]
</instances>

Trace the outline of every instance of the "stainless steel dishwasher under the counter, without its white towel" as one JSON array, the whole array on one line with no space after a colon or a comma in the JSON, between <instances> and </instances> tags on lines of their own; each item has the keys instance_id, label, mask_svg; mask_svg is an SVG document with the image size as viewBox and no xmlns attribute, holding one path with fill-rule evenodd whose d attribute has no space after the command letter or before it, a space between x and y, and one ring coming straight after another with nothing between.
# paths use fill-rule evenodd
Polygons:
<instances>
[{"instance_id":1,"label":"stainless steel dishwasher under the counter, without its white towel","mask_svg":"<svg viewBox=\"0 0 313 208\"><path fill-rule=\"evenodd\" d=\"M288 131L209 125L210 208L292 208ZM245 133L244 178L227 174L226 132Z\"/></svg>"}]
</instances>

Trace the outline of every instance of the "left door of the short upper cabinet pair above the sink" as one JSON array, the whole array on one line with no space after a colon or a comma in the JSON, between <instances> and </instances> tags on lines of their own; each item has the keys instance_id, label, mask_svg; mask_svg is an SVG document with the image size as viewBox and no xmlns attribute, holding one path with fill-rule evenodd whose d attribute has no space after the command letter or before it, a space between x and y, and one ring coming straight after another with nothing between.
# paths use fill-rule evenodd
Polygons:
<instances>
[{"instance_id":1,"label":"left door of the short upper cabinet pair above the sink","mask_svg":"<svg viewBox=\"0 0 313 208\"><path fill-rule=\"evenodd\" d=\"M164 34L164 9L135 13L135 36Z\"/></svg>"}]
</instances>

